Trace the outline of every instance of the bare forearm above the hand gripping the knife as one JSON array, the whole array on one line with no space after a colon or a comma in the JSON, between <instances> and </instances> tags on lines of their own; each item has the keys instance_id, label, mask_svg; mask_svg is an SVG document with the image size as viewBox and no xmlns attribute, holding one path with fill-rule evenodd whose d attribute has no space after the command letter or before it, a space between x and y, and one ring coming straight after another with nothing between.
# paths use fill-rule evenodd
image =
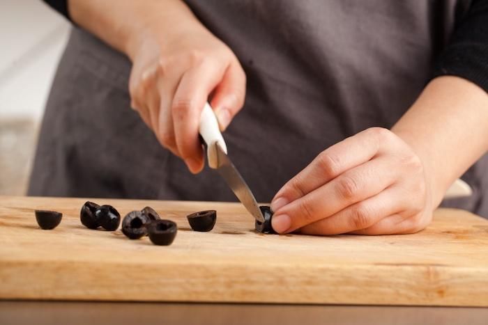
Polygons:
<instances>
[{"instance_id":1,"label":"bare forearm above the hand gripping the knife","mask_svg":"<svg viewBox=\"0 0 488 325\"><path fill-rule=\"evenodd\" d=\"M130 58L148 33L165 35L182 22L199 24L181 0L69 0L68 8L74 22Z\"/></svg>"}]
</instances>

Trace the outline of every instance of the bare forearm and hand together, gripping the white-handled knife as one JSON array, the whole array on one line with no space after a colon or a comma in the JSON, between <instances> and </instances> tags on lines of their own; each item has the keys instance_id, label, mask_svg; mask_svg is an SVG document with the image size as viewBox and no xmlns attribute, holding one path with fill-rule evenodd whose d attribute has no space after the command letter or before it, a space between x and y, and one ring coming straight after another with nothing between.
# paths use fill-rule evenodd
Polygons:
<instances>
[{"instance_id":1,"label":"bare forearm and hand together, gripping the white-handled knife","mask_svg":"<svg viewBox=\"0 0 488 325\"><path fill-rule=\"evenodd\" d=\"M132 107L158 141L192 173L201 171L198 125L206 100L211 97L222 131L244 103L245 74L231 49L183 0L70 0L69 5L79 26L132 61Z\"/></svg>"}]
</instances>

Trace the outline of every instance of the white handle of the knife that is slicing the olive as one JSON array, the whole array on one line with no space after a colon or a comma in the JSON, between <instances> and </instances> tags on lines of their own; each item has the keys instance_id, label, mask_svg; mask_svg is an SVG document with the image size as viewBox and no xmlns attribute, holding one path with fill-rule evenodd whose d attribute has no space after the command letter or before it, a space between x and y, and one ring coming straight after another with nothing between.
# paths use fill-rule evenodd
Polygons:
<instances>
[{"instance_id":1,"label":"white handle of the knife that is slicing the olive","mask_svg":"<svg viewBox=\"0 0 488 325\"><path fill-rule=\"evenodd\" d=\"M215 151L215 142L218 142L227 154L227 145L225 144L222 133L220 133L219 123L213 113L210 104L205 103L204 110L201 111L199 133L207 145L207 159L210 168L218 167L217 152Z\"/></svg>"}]
</instances>

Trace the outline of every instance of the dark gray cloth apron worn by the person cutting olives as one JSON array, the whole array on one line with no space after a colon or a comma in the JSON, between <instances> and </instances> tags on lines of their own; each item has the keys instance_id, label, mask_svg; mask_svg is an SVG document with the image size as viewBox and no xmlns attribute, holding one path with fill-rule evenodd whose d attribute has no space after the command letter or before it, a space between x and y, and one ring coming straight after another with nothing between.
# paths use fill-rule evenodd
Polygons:
<instances>
[{"instance_id":1,"label":"dark gray cloth apron worn by the person cutting olives","mask_svg":"<svg viewBox=\"0 0 488 325\"><path fill-rule=\"evenodd\" d=\"M245 106L224 138L257 200L346 136L390 128L429 81L468 2L188 1L247 74ZM73 29L29 194L235 200L216 173L192 175L158 144L130 109L129 73L125 56ZM485 156L463 177L474 195L444 205L488 216L487 171Z\"/></svg>"}]
</instances>

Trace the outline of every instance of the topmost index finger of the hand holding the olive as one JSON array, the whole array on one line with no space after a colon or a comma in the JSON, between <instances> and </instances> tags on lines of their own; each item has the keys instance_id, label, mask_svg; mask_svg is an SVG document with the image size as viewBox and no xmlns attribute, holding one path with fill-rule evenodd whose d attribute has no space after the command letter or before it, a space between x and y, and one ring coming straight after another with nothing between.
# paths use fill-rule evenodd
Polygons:
<instances>
[{"instance_id":1,"label":"topmost index finger of the hand holding the olive","mask_svg":"<svg viewBox=\"0 0 488 325\"><path fill-rule=\"evenodd\" d=\"M338 175L379 155L386 129L371 128L324 150L303 171L284 184L271 202L277 212L281 207L318 189Z\"/></svg>"}]
</instances>

